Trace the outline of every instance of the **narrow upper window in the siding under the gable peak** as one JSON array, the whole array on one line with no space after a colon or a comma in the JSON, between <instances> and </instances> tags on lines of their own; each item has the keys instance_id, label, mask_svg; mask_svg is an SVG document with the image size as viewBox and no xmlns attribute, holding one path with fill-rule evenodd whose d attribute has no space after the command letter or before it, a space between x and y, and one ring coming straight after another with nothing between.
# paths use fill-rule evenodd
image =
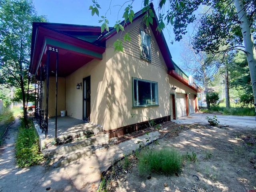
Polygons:
<instances>
[{"instance_id":1,"label":"narrow upper window in the siding under the gable peak","mask_svg":"<svg viewBox=\"0 0 256 192\"><path fill-rule=\"evenodd\" d=\"M143 30L140 31L140 42L141 42L141 57L151 61L151 38L150 35L146 34Z\"/></svg>"}]
</instances>

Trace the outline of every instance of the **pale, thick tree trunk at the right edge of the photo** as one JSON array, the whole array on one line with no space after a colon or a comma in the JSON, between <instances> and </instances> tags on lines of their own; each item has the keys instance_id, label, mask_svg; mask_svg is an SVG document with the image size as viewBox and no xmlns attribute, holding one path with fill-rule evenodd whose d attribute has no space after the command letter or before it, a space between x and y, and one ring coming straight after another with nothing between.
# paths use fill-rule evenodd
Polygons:
<instances>
[{"instance_id":1,"label":"pale, thick tree trunk at the right edge of the photo","mask_svg":"<svg viewBox=\"0 0 256 192\"><path fill-rule=\"evenodd\" d=\"M256 115L256 50L254 47L252 32L250 30L250 25L247 19L247 14L244 8L244 4L242 0L234 0L234 4L236 6L238 21L239 21L239 25L242 30L242 35L244 39L246 58L247 58L247 62L250 70L251 82L252 82L252 92L254 96L254 108L255 108L255 115Z\"/></svg>"}]
</instances>

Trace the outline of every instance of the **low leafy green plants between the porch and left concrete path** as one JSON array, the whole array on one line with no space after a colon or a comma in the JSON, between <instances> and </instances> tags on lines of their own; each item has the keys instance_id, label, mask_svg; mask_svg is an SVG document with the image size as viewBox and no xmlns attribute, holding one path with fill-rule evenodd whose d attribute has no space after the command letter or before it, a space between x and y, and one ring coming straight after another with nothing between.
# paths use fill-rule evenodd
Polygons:
<instances>
[{"instance_id":1,"label":"low leafy green plants between the porch and left concrete path","mask_svg":"<svg viewBox=\"0 0 256 192\"><path fill-rule=\"evenodd\" d=\"M31 121L29 127L26 128L23 118L20 119L19 133L15 147L16 162L19 167L36 165L44 160L39 150L38 136Z\"/></svg>"}]
</instances>

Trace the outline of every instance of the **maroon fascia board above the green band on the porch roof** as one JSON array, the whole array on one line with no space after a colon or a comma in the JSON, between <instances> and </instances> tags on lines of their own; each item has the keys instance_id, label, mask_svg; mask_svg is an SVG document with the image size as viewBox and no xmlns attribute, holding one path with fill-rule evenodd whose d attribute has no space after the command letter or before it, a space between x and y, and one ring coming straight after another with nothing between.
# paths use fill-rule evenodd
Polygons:
<instances>
[{"instance_id":1,"label":"maroon fascia board above the green band on the porch roof","mask_svg":"<svg viewBox=\"0 0 256 192\"><path fill-rule=\"evenodd\" d=\"M40 33L40 35L44 36L44 38L52 38L54 40L58 40L60 42L65 42L67 44L73 45L73 46L77 46L80 48L84 48L93 52L97 52L97 53L104 53L105 52L105 48L91 44L89 42L83 41L83 40L79 40L77 38L74 37L70 37L67 36L65 34L59 33L59 32L55 32L53 30L44 28L42 26L38 26L38 33Z\"/></svg>"}]
</instances>

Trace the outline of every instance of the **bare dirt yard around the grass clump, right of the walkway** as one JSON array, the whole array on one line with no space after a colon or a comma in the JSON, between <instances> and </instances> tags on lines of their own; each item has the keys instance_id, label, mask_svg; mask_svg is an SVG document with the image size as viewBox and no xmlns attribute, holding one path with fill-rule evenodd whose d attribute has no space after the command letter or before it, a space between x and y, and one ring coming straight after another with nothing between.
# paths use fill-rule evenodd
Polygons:
<instances>
[{"instance_id":1,"label":"bare dirt yard around the grass clump, right of the walkway","mask_svg":"<svg viewBox=\"0 0 256 192\"><path fill-rule=\"evenodd\" d=\"M212 127L167 123L155 150L174 147L182 154L196 154L177 175L139 175L135 155L130 165L118 162L104 176L106 191L117 192L250 192L256 191L255 128Z\"/></svg>"}]
</instances>

